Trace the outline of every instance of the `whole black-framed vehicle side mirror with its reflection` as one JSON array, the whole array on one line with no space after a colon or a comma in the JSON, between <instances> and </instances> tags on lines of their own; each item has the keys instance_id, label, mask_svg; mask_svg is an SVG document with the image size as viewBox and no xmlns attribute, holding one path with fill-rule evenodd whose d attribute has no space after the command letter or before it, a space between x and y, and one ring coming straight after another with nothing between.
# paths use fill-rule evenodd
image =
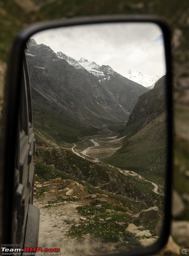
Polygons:
<instances>
[{"instance_id":1,"label":"whole black-framed vehicle side mirror with its reflection","mask_svg":"<svg viewBox=\"0 0 189 256\"><path fill-rule=\"evenodd\" d=\"M160 250L171 219L171 88L170 30L159 18L20 32L1 120L2 255Z\"/></svg>"}]
</instances>

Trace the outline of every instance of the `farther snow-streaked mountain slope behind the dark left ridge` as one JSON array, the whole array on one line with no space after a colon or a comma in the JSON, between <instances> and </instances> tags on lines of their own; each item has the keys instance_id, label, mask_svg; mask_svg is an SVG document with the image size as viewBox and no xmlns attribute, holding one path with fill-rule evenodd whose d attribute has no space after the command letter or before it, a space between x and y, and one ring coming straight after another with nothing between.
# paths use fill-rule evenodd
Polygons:
<instances>
[{"instance_id":1,"label":"farther snow-streaked mountain slope behind the dark left ridge","mask_svg":"<svg viewBox=\"0 0 189 256\"><path fill-rule=\"evenodd\" d=\"M137 84L121 76L108 65L99 66L94 61L90 62L84 58L78 61L71 60L69 56L61 52L58 52L57 56L69 61L70 65L78 69L82 69L83 67L89 73L93 74L101 86L110 93L111 97L116 99L119 107L129 112L132 111L137 103L138 97L149 90L141 84Z\"/></svg>"}]
</instances>

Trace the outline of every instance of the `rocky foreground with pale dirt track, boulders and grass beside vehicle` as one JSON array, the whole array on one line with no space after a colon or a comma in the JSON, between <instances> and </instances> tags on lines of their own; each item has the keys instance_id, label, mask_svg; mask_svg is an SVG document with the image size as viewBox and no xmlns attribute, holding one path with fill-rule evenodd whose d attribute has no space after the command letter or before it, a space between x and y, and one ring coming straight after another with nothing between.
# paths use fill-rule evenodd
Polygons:
<instances>
[{"instance_id":1,"label":"rocky foreground with pale dirt track, boulders and grass beside vehicle","mask_svg":"<svg viewBox=\"0 0 189 256\"><path fill-rule=\"evenodd\" d=\"M159 218L156 206L136 213L110 194L90 194L85 185L70 179L44 182L35 175L34 186L41 247L61 246L61 255L95 255L147 246L158 238L161 224L155 231L149 225Z\"/></svg>"}]
</instances>

